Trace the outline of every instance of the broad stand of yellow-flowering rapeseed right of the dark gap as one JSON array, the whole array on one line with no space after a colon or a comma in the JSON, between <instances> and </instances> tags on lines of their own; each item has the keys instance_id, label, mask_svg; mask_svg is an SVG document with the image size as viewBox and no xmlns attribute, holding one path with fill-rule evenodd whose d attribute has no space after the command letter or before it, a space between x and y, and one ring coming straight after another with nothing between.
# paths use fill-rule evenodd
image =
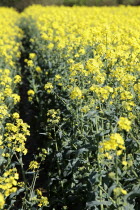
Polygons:
<instances>
[{"instance_id":1,"label":"broad stand of yellow-flowering rapeseed right of the dark gap","mask_svg":"<svg viewBox=\"0 0 140 210\"><path fill-rule=\"evenodd\" d=\"M22 14L51 208L139 206L139 14L123 6Z\"/></svg>"}]
</instances>

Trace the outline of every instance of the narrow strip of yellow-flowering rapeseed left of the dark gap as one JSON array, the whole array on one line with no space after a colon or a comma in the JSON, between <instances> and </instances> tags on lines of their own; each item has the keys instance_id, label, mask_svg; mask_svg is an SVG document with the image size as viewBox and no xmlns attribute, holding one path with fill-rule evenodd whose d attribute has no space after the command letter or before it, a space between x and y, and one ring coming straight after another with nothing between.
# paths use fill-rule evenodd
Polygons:
<instances>
[{"instance_id":1,"label":"narrow strip of yellow-flowering rapeseed left of the dark gap","mask_svg":"<svg viewBox=\"0 0 140 210\"><path fill-rule=\"evenodd\" d=\"M21 57L23 31L19 28L20 15L13 9L0 8L0 209L42 209L48 199L35 182L39 170L29 165L33 174L27 181L23 156L27 154L26 141L30 126L19 114L19 84L22 82ZM44 158L44 153L40 153ZM39 163L43 161L38 159ZM31 196L32 194L32 196ZM30 196L30 197L29 197ZM34 201L30 201L34 196ZM27 207L27 208L26 208Z\"/></svg>"}]
</instances>

